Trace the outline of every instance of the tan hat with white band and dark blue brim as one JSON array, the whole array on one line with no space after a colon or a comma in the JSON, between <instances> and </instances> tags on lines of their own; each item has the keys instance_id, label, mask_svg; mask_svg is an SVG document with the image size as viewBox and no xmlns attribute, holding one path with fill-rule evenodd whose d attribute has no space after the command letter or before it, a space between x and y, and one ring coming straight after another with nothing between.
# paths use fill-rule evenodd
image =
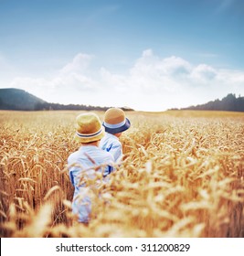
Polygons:
<instances>
[{"instance_id":1,"label":"tan hat with white band and dark blue brim","mask_svg":"<svg viewBox=\"0 0 244 256\"><path fill-rule=\"evenodd\" d=\"M105 112L102 125L105 127L105 132L114 134L126 131L130 128L131 123L130 120L125 117L122 109L111 108Z\"/></svg>"}]
</instances>

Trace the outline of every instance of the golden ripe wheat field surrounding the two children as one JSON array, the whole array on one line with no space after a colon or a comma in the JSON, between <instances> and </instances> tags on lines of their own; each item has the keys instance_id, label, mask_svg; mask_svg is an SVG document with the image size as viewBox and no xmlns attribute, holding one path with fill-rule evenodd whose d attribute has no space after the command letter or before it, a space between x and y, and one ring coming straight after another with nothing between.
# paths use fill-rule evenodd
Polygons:
<instances>
[{"instance_id":1,"label":"golden ripe wheat field surrounding the two children","mask_svg":"<svg viewBox=\"0 0 244 256\"><path fill-rule=\"evenodd\" d=\"M88 226L70 210L79 113L0 112L1 237L244 237L243 112L127 112Z\"/></svg>"}]
</instances>

